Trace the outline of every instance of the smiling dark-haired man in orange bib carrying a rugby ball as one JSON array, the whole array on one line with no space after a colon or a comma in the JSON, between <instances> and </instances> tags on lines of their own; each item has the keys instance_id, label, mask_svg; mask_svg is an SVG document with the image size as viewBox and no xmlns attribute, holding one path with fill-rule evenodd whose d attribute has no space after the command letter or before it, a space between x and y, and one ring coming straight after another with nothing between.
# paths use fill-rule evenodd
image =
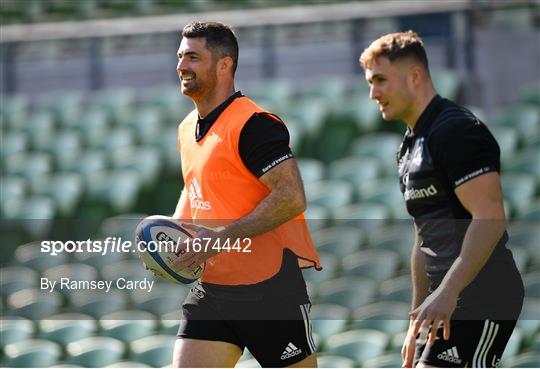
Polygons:
<instances>
[{"instance_id":1,"label":"smiling dark-haired man in orange bib carrying a rugby ball","mask_svg":"<svg viewBox=\"0 0 540 369\"><path fill-rule=\"evenodd\" d=\"M194 241L175 268L205 270L182 306L173 365L234 367L247 347L265 367L316 367L301 268L320 264L287 128L235 91L229 27L195 22L182 36L177 72L195 110L178 128L174 217L193 222Z\"/></svg>"}]
</instances>

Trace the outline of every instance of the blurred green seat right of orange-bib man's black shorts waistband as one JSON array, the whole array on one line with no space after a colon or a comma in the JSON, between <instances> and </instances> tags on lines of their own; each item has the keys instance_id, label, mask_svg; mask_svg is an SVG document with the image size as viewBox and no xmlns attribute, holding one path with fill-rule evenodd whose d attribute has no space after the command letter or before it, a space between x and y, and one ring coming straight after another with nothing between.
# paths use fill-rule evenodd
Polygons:
<instances>
[{"instance_id":1,"label":"blurred green seat right of orange-bib man's black shorts waistband","mask_svg":"<svg viewBox=\"0 0 540 369\"><path fill-rule=\"evenodd\" d=\"M336 304L350 310L372 302L376 282L364 278L338 278L318 286L317 304Z\"/></svg>"}]
</instances>

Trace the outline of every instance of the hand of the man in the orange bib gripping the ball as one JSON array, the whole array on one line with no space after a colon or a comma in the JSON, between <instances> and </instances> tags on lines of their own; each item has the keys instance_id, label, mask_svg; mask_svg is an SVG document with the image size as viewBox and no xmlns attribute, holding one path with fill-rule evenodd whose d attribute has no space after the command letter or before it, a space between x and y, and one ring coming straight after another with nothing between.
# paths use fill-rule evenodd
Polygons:
<instances>
[{"instance_id":1,"label":"hand of the man in the orange bib gripping the ball","mask_svg":"<svg viewBox=\"0 0 540 369\"><path fill-rule=\"evenodd\" d=\"M205 250L205 247L203 246L201 250L194 251L192 244L188 245L188 244L182 243L178 245L180 250L184 249L187 251L183 253L181 257L178 257L178 259L173 261L172 267L174 270L176 271L182 271L186 269L194 270L199 265L203 264L207 259L219 253L219 251L217 251L216 248L213 248L211 246L214 245L214 242L216 242L217 240L223 239L223 234L221 233L220 230L198 226L192 223L182 222L181 225L187 230L192 231L192 234L193 234L192 239L198 239L198 240L210 239L210 242L209 242L210 247L208 247Z\"/></svg>"}]
</instances>

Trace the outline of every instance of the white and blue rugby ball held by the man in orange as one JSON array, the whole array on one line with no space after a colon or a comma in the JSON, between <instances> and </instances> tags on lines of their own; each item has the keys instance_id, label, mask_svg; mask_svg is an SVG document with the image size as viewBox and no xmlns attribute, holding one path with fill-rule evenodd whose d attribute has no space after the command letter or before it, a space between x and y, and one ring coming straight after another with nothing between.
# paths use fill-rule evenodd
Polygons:
<instances>
[{"instance_id":1,"label":"white and blue rugby ball held by the man in orange","mask_svg":"<svg viewBox=\"0 0 540 369\"><path fill-rule=\"evenodd\" d=\"M192 235L173 218L163 215L144 218L136 230L139 258L160 278L173 283L192 283L201 277L204 264L192 272L177 272L171 267L173 260L181 257L176 245L191 237Z\"/></svg>"}]
</instances>

